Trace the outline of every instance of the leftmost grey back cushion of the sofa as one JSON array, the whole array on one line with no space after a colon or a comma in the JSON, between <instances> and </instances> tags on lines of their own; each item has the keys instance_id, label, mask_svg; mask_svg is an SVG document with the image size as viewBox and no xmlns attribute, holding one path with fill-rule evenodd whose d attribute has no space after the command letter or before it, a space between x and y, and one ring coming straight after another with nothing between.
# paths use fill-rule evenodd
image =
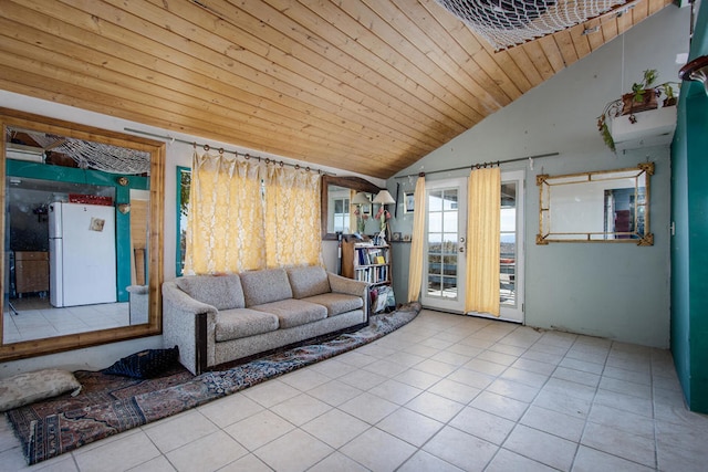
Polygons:
<instances>
[{"instance_id":1,"label":"leftmost grey back cushion of the sofa","mask_svg":"<svg viewBox=\"0 0 708 472\"><path fill-rule=\"evenodd\" d=\"M178 277L177 286L192 298L217 310L243 308L243 290L237 274Z\"/></svg>"}]
</instances>

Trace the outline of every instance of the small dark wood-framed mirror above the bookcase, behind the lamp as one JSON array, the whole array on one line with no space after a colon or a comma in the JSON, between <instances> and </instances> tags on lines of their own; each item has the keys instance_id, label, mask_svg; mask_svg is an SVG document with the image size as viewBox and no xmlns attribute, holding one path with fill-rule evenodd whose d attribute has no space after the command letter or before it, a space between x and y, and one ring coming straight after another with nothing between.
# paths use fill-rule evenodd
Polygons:
<instances>
[{"instance_id":1,"label":"small dark wood-framed mirror above the bookcase, behind the lamp","mask_svg":"<svg viewBox=\"0 0 708 472\"><path fill-rule=\"evenodd\" d=\"M371 217L371 201L379 190L382 190L379 187L361 177L322 177L322 239L336 240L337 232L344 234L357 231L368 234L369 230L371 233L377 232L378 227L372 218L363 220L363 228L358 228L355 211L361 212L360 217L363 214ZM357 202L357 193L362 193L358 198L366 198L369 203L364 203L365 200ZM360 231L362 229L363 231Z\"/></svg>"}]
</instances>

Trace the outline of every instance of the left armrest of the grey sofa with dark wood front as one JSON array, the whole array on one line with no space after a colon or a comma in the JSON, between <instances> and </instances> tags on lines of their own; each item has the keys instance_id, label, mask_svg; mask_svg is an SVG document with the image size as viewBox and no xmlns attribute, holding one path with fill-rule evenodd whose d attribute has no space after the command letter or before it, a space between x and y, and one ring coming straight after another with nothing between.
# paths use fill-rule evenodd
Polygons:
<instances>
[{"instance_id":1,"label":"left armrest of the grey sofa with dark wood front","mask_svg":"<svg viewBox=\"0 0 708 472\"><path fill-rule=\"evenodd\" d=\"M179 361L195 375L215 363L218 310L163 283L163 345L179 346Z\"/></svg>"}]
</instances>

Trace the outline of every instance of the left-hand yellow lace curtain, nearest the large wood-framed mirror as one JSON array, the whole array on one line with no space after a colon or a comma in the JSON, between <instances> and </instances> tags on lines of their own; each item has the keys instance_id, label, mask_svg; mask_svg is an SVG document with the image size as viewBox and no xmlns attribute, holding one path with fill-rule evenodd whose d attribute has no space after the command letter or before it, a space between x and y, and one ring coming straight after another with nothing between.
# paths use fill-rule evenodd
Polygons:
<instances>
[{"instance_id":1,"label":"left-hand yellow lace curtain, nearest the large wood-framed mirror","mask_svg":"<svg viewBox=\"0 0 708 472\"><path fill-rule=\"evenodd\" d=\"M212 274L264 266L263 166L222 154L194 155L185 272Z\"/></svg>"}]
</instances>

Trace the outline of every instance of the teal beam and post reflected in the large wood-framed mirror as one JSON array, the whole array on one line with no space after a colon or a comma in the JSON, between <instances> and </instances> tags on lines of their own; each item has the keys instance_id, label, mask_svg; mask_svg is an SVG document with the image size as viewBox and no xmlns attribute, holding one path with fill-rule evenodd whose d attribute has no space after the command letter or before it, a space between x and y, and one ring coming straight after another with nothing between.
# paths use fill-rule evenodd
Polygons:
<instances>
[{"instance_id":1,"label":"teal beam and post reflected in the large wood-framed mirror","mask_svg":"<svg viewBox=\"0 0 708 472\"><path fill-rule=\"evenodd\" d=\"M22 160L7 160L7 175L10 177L24 177L30 179L43 179L74 183L88 183L94 186L106 186L115 188L115 203L126 203L131 201L131 189L148 190L149 178L128 177L127 186L119 186L115 174L102 172L100 170L84 170L71 167L48 166L44 164L27 162ZM115 212L116 231L116 283L118 302L128 301L126 287L131 285L131 213L123 214Z\"/></svg>"}]
</instances>

